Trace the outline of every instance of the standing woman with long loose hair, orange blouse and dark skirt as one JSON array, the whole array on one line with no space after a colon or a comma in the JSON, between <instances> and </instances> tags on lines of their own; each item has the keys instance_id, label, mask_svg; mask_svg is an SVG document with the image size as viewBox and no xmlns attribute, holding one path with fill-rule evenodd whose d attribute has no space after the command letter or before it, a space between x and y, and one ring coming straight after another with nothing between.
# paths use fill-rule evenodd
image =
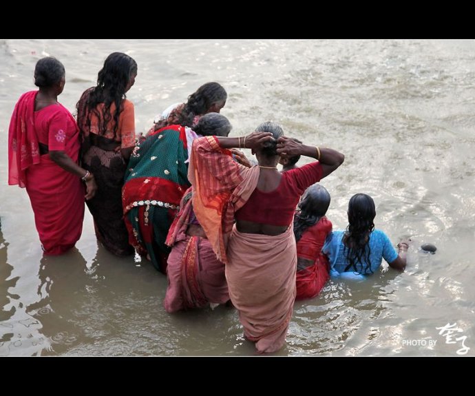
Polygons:
<instances>
[{"instance_id":1,"label":"standing woman with long loose hair, orange blouse and dark skirt","mask_svg":"<svg viewBox=\"0 0 475 396\"><path fill-rule=\"evenodd\" d=\"M94 199L87 207L97 239L116 256L134 253L123 220L122 187L135 146L134 104L125 93L135 83L137 63L114 52L98 73L96 87L78 101L78 125L83 134L83 166L96 177Z\"/></svg>"}]
</instances>

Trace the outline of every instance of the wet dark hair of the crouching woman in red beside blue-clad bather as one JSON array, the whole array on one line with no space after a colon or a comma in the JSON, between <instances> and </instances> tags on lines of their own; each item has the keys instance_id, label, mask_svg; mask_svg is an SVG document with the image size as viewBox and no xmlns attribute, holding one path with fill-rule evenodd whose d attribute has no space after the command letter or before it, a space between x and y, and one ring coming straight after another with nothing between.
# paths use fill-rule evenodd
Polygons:
<instances>
[{"instance_id":1,"label":"wet dark hair of the crouching woman in red beside blue-clad bather","mask_svg":"<svg viewBox=\"0 0 475 396\"><path fill-rule=\"evenodd\" d=\"M324 186L315 183L305 190L293 219L295 242L299 242L308 227L316 225L325 216L329 206L330 193Z\"/></svg>"}]
</instances>

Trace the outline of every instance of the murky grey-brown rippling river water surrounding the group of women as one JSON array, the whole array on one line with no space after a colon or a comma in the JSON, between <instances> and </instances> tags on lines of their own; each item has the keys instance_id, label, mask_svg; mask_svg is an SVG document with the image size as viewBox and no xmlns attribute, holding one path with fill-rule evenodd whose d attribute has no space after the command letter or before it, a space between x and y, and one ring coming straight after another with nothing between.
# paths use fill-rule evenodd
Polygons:
<instances>
[{"instance_id":1,"label":"murky grey-brown rippling river water surrounding the group of women","mask_svg":"<svg viewBox=\"0 0 475 396\"><path fill-rule=\"evenodd\" d=\"M275 355L475 355L474 41L3 40L0 356L254 355L233 309L166 313L165 276L98 246L87 208L77 249L43 258L26 191L7 185L8 123L35 88L36 61L63 62L59 101L74 112L114 51L138 63L127 94L137 132L218 81L230 136L277 121L346 155L322 181L335 229L346 227L349 198L364 192L394 245L414 239L405 273L383 264L365 282L330 280L319 297L297 302ZM423 242L436 253L419 251Z\"/></svg>"}]
</instances>

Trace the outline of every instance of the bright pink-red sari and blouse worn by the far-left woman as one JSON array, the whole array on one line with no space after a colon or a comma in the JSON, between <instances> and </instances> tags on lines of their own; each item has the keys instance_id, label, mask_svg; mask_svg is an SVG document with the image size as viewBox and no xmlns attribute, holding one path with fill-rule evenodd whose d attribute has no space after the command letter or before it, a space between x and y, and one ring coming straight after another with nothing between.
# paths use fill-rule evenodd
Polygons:
<instances>
[{"instance_id":1,"label":"bright pink-red sari and blouse worn by the far-left woman","mask_svg":"<svg viewBox=\"0 0 475 396\"><path fill-rule=\"evenodd\" d=\"M77 163L76 121L63 105L34 112L37 91L23 94L8 130L8 184L26 187L45 254L58 255L81 238L84 185L81 179L40 154L39 144L62 150Z\"/></svg>"}]
</instances>

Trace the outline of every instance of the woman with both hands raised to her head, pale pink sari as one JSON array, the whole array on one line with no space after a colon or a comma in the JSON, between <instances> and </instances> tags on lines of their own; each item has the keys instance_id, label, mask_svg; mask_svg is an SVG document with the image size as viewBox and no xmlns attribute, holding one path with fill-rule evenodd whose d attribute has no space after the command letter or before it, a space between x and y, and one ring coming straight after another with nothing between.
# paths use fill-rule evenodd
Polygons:
<instances>
[{"instance_id":1,"label":"woman with both hands raised to her head, pale pink sari","mask_svg":"<svg viewBox=\"0 0 475 396\"><path fill-rule=\"evenodd\" d=\"M339 152L298 143L275 123L242 138L207 136L193 142L189 180L193 209L217 258L226 266L229 295L244 335L258 353L282 348L295 301L297 251L293 214L305 189L344 161ZM250 148L258 165L229 156ZM279 156L316 161L281 174ZM234 224L235 221L235 224Z\"/></svg>"}]
</instances>

